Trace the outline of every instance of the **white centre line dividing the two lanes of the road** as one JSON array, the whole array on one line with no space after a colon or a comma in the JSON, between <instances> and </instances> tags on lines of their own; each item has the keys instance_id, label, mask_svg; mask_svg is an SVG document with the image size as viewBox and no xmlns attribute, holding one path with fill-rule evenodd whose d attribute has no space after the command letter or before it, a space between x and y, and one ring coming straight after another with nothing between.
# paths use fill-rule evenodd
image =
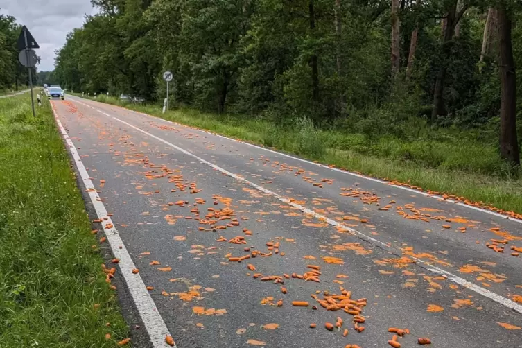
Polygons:
<instances>
[{"instance_id":1,"label":"white centre line dividing the two lanes of the road","mask_svg":"<svg viewBox=\"0 0 522 348\"><path fill-rule=\"evenodd\" d=\"M295 202L292 202L291 200L288 200L288 198L284 198L283 196L281 196L281 195L279 195L279 194L277 194L275 192L272 192L272 191L266 189L263 186L259 186L258 184L254 184L254 182L250 182L249 180L246 180L244 177L241 177L241 176L238 176L238 175L236 175L234 173L231 173L231 172L227 171L226 169L221 168L220 166L216 166L216 164L208 162L207 160L202 159L201 157L198 157L197 155L194 155L193 153L191 153L191 152L189 152L187 150L184 150L183 148L180 148L180 146L176 146L173 143L170 143L170 142L166 141L165 139L157 137L154 134L150 134L146 130L142 130L141 128L138 128L135 125L132 125L132 124L130 124L128 122L125 122L125 121L123 121L121 119L118 119L117 117L111 116L110 114L107 114L106 112L103 112L102 110L99 110L96 107L92 107L91 105L87 105L87 104L81 103L81 102L78 102L78 103L86 105L87 107L91 107L92 109L96 110L97 112L100 112L101 114L104 114L105 116L108 116L111 119L119 121L119 122L123 123L124 125L128 125L130 128L133 128L134 130L142 132L143 134L146 134L149 137L151 137L153 139L156 139L157 141L161 141L162 143L165 143L166 145L171 146L171 148L175 148L176 150L180 151L181 153L184 153L185 155L189 155L189 156L191 156L191 157L193 157L195 159L198 159L198 161L200 161L203 164L207 164L207 166L210 166L211 168L216 169L216 171L220 171L221 173L229 175L229 177L233 177L236 180L240 180L242 182L245 182L245 184L248 184L249 186L252 186L255 189L257 189L257 190L259 190L259 191L261 191L263 193L267 193L268 195L272 195L272 197L275 197L278 200L280 200L281 202L284 202L287 205L291 205L292 207L295 207L295 208L299 209L300 211L302 211L302 212L304 212L306 214L309 214L311 216L314 216L315 218L318 218L318 219L320 219L322 221L325 221L325 222L329 223L330 225L332 225L334 227L338 227L340 229L344 229L345 231L349 231L349 232L355 234L356 236L358 236L359 238L363 239L364 241L367 241L368 243L372 243L374 245L377 245L378 247L381 247L384 250L392 251L392 248L390 248L386 243L383 243L382 241L379 241L378 239L373 238L372 236L368 236L367 234L364 234L363 232L359 232L356 229L352 229L350 227L347 227L347 226L343 225L342 223L338 223L336 220L332 220L331 218L327 218L326 216L318 214L318 213L316 213L315 211L313 211L311 209L308 209L308 208L306 208L306 207L304 207L302 205L299 205L299 204L297 204ZM433 272L435 274L447 277L448 279L450 279L451 281L453 281L456 284L459 284L460 286L464 286L465 288L468 288L469 290L472 290L475 293L478 293L478 294L480 294L480 295L482 295L484 297L487 297L487 298L493 300L494 302L497 302L498 304L502 304L503 306L505 306L507 308L510 308L513 311L516 311L516 312L519 312L519 313L522 314L522 306L520 304L516 304L516 302L512 301L511 299L507 299L507 298L505 298L505 297L503 297L501 295L498 295L497 293L494 293L494 292L492 292L490 290L487 290L486 288L482 288L481 286L473 284L473 283L471 283L470 281L467 281L464 278L458 277L457 275L454 275L453 273L451 273L449 271L443 270L440 267L433 266L432 264L430 264L430 263L428 263L426 261L423 261L421 259L417 259L415 257L411 257L411 258L413 260L415 260L418 264L421 264L427 270L430 270L431 272Z\"/></svg>"}]
</instances>

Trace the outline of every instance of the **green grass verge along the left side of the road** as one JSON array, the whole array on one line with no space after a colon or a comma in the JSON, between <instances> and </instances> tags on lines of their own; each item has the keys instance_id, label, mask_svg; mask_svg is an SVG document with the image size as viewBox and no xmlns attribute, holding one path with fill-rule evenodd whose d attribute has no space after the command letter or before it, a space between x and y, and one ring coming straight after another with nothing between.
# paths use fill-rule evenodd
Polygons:
<instances>
[{"instance_id":1,"label":"green grass verge along the left side of the road","mask_svg":"<svg viewBox=\"0 0 522 348\"><path fill-rule=\"evenodd\" d=\"M116 347L128 327L49 103L0 110L0 347Z\"/></svg>"}]
</instances>

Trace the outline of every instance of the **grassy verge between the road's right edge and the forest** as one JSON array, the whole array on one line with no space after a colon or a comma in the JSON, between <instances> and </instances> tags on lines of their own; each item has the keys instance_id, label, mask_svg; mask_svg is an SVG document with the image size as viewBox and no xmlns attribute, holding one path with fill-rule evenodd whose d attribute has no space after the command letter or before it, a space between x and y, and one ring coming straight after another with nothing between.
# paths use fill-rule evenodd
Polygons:
<instances>
[{"instance_id":1,"label":"grassy verge between the road's right edge and the forest","mask_svg":"<svg viewBox=\"0 0 522 348\"><path fill-rule=\"evenodd\" d=\"M417 122L410 125L415 128L415 137L399 138L353 130L318 130L306 119L277 125L261 117L209 114L183 108L162 114L157 105L122 103L106 96L99 96L96 101L522 214L519 170L512 170L501 161L496 143L491 140L496 139L496 134L487 130L430 130L426 124Z\"/></svg>"}]
</instances>

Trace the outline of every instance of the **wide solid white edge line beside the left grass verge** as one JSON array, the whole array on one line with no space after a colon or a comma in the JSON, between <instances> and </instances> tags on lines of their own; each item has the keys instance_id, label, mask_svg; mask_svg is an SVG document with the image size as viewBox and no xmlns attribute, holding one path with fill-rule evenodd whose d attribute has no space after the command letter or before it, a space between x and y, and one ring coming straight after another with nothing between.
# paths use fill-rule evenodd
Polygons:
<instances>
[{"instance_id":1,"label":"wide solid white edge line beside the left grass verge","mask_svg":"<svg viewBox=\"0 0 522 348\"><path fill-rule=\"evenodd\" d=\"M89 173L87 173L87 170L85 169L85 166L83 165L82 160L80 159L80 155L78 154L78 150L76 150L76 146L74 146L73 142L69 138L69 135L67 134L67 131L60 122L53 102L51 102L51 106L53 108L53 114L56 123L58 124L58 128L60 129L60 132L64 137L65 143L71 151L74 163L76 164L76 169L78 170L78 173L80 174L80 177L82 178L83 183L85 184L85 188L88 190L92 189L88 191L89 198L91 199L92 205L94 206L96 215L100 220L103 221L101 225L103 227L103 231L105 232L105 236L107 236L107 241L109 242L114 257L120 259L119 267L121 270L121 274L123 275L123 279L125 279L125 283L127 283L130 295L132 296L138 313L141 316L141 320L145 325L145 329L147 330L148 336L151 342L153 343L153 347L171 347L170 345L167 345L165 342L165 337L167 335L170 335L166 327L166 324L162 316L157 311L153 298L150 297L150 294L148 293L148 290L145 284L143 283L141 275L139 275L139 273L137 273L136 275L132 273L132 270L136 268L134 266L134 262L132 262L130 254L128 253L125 245L123 244L123 241L121 240L118 231L116 230L116 228L114 228L114 223L112 223L111 218L107 216L107 210L105 210L105 206L103 205L103 202L101 202L98 193L96 193L96 190L94 190L94 184L89 179ZM104 218L107 218L107 220L104 220ZM107 225L110 228L108 228Z\"/></svg>"}]
</instances>

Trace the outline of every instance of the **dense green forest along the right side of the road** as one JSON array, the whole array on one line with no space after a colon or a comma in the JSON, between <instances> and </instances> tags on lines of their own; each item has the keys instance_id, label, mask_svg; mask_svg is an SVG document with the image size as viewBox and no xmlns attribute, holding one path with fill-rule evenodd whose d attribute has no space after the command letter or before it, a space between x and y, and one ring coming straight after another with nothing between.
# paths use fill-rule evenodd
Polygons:
<instances>
[{"instance_id":1,"label":"dense green forest along the right side of the road","mask_svg":"<svg viewBox=\"0 0 522 348\"><path fill-rule=\"evenodd\" d=\"M501 155L519 163L519 1L92 4L99 14L69 33L56 58L54 77L69 89L161 100L168 69L177 103L283 123L297 115L407 136L412 118L467 128L500 119Z\"/></svg>"}]
</instances>

